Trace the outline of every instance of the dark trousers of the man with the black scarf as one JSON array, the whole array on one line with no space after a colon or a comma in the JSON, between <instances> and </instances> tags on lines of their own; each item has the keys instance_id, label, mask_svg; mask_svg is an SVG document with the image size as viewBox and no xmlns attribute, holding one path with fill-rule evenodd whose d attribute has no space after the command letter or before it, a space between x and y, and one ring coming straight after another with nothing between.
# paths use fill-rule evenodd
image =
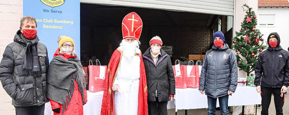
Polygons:
<instances>
[{"instance_id":1,"label":"dark trousers of the man with the black scarf","mask_svg":"<svg viewBox=\"0 0 289 115\"><path fill-rule=\"evenodd\" d=\"M44 115L45 104L41 106L14 107L16 115Z\"/></svg>"}]
</instances>

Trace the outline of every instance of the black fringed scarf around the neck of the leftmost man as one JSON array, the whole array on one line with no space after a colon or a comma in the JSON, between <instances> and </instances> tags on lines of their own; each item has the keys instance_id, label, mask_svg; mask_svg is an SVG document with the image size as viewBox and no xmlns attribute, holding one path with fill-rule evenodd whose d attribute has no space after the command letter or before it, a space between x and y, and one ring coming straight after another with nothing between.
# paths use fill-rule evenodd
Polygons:
<instances>
[{"instance_id":1,"label":"black fringed scarf around the neck of the leftmost man","mask_svg":"<svg viewBox=\"0 0 289 115\"><path fill-rule=\"evenodd\" d=\"M22 45L26 45L23 75L34 77L41 76L42 70L40 61L37 54L38 37L35 36L32 40L26 39L23 34L20 34L20 39L23 41Z\"/></svg>"}]
</instances>

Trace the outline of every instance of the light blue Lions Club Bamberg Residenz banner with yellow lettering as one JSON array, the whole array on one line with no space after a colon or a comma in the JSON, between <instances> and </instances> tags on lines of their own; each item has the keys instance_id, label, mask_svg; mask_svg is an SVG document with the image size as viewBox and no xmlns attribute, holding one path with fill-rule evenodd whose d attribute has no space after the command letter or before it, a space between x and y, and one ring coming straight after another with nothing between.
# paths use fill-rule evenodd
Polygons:
<instances>
[{"instance_id":1,"label":"light blue Lions Club Bamberg Residenz banner with yellow lettering","mask_svg":"<svg viewBox=\"0 0 289 115\"><path fill-rule=\"evenodd\" d=\"M80 0L23 0L23 16L27 15L36 18L37 36L47 47L49 61L61 35L74 40L80 57Z\"/></svg>"}]
</instances>

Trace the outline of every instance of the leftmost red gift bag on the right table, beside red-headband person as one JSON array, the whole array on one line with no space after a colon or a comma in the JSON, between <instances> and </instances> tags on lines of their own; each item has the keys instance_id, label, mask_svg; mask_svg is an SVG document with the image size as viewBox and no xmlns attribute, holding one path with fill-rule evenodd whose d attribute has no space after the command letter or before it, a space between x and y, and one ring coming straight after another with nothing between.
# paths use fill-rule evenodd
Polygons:
<instances>
[{"instance_id":1,"label":"leftmost red gift bag on the right table, beside red-headband person","mask_svg":"<svg viewBox=\"0 0 289 115\"><path fill-rule=\"evenodd\" d=\"M179 64L177 64L179 62ZM174 75L175 75L175 85L176 88L179 89L186 89L187 88L187 81L186 77L182 76L184 73L184 66L180 66L180 61L176 60L175 65L173 66Z\"/></svg>"}]
</instances>

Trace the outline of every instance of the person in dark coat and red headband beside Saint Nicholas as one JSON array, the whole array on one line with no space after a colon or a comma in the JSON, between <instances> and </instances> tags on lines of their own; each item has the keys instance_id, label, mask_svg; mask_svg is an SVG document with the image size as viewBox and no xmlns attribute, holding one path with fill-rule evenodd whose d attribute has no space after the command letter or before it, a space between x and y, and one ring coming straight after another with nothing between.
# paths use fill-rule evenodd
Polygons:
<instances>
[{"instance_id":1,"label":"person in dark coat and red headband beside Saint Nicholas","mask_svg":"<svg viewBox=\"0 0 289 115\"><path fill-rule=\"evenodd\" d=\"M175 95L175 76L171 57L162 47L158 36L149 41L150 47L142 55L147 75L149 115L167 115L167 104Z\"/></svg>"}]
</instances>

